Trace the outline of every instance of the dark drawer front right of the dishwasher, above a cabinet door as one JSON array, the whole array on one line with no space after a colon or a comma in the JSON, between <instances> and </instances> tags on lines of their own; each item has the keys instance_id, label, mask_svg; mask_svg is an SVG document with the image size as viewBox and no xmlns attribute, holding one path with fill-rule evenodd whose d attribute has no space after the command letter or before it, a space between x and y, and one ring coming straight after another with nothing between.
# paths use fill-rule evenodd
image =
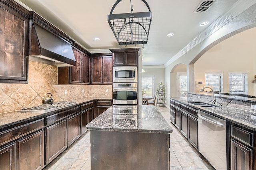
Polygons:
<instances>
[{"instance_id":1,"label":"dark drawer front right of the dishwasher, above a cabinet door","mask_svg":"<svg viewBox=\"0 0 256 170\"><path fill-rule=\"evenodd\" d=\"M253 133L249 131L246 131L244 129L231 125L231 136L237 139L238 141L245 143L246 145L249 145L251 147L253 145L252 143Z\"/></svg>"}]
</instances>

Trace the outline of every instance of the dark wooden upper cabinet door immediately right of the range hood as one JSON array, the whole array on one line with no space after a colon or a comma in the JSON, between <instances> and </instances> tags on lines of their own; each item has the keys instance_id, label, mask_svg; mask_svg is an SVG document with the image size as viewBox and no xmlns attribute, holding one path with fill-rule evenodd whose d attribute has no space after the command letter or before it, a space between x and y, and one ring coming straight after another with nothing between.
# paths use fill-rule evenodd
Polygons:
<instances>
[{"instance_id":1,"label":"dark wooden upper cabinet door immediately right of the range hood","mask_svg":"<svg viewBox=\"0 0 256 170\"><path fill-rule=\"evenodd\" d=\"M72 47L76 58L76 66L70 67L70 84L81 83L81 51Z\"/></svg>"}]
</instances>

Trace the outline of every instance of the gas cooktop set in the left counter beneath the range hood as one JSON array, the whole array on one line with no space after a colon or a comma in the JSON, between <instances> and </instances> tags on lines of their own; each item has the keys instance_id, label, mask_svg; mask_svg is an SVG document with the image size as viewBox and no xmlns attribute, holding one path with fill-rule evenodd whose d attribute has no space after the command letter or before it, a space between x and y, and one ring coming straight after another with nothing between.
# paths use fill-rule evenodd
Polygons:
<instances>
[{"instance_id":1,"label":"gas cooktop set in the left counter beneath the range hood","mask_svg":"<svg viewBox=\"0 0 256 170\"><path fill-rule=\"evenodd\" d=\"M53 111L56 109L60 109L62 107L71 106L76 104L77 102L71 102L71 101L63 101L63 102L53 102L52 104L40 104L37 106L31 106L31 107L24 107L17 111L23 111L23 112L46 112L46 111Z\"/></svg>"}]
</instances>

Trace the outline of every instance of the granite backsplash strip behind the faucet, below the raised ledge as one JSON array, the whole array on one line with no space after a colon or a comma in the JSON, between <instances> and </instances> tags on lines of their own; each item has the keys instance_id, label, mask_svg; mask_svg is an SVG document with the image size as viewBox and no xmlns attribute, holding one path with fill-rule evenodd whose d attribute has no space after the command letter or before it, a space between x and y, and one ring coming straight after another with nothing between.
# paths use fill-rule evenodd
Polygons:
<instances>
[{"instance_id":1,"label":"granite backsplash strip behind the faucet, below the raised ledge","mask_svg":"<svg viewBox=\"0 0 256 170\"><path fill-rule=\"evenodd\" d=\"M256 105L256 99L254 98L245 98L240 96L226 96L216 94L216 104L220 103L222 106L234 107L246 111L256 110L251 109L251 105ZM211 102L212 94L199 94L199 93L188 93L188 101L201 101L201 102Z\"/></svg>"}]
</instances>

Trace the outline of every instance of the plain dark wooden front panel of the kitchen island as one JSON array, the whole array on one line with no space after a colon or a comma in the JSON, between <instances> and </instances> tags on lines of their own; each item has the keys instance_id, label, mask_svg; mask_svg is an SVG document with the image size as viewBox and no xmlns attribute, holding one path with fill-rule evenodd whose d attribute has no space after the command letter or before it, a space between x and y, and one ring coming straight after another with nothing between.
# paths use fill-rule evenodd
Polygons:
<instances>
[{"instance_id":1,"label":"plain dark wooden front panel of the kitchen island","mask_svg":"<svg viewBox=\"0 0 256 170\"><path fill-rule=\"evenodd\" d=\"M170 170L170 134L91 130L91 170Z\"/></svg>"}]
</instances>

